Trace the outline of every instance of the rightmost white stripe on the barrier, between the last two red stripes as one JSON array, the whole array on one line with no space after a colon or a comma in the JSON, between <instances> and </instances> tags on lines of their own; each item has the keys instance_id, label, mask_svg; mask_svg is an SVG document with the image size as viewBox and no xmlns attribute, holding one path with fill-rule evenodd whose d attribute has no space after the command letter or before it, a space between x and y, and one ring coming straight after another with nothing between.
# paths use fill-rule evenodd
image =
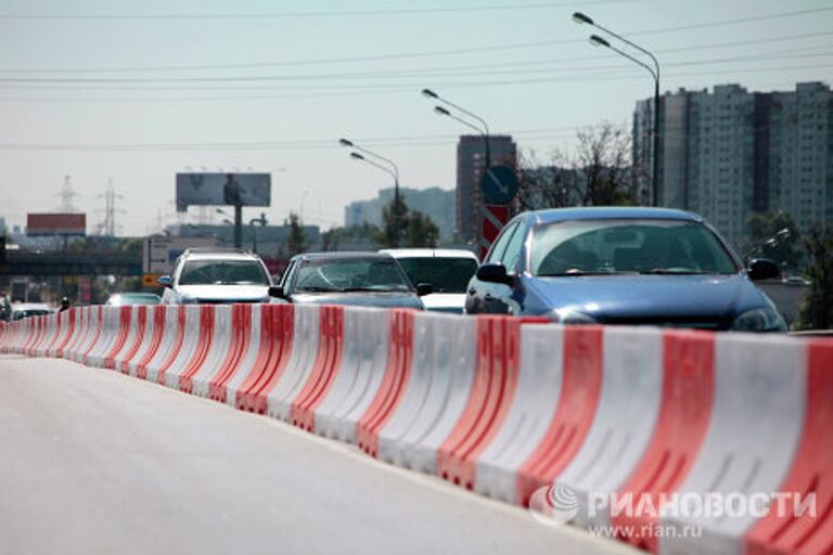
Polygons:
<instances>
[{"instance_id":1,"label":"rightmost white stripe on the barrier, between the last two red stripes","mask_svg":"<svg viewBox=\"0 0 833 555\"><path fill-rule=\"evenodd\" d=\"M720 335L716 338L715 402L700 455L678 493L730 494L744 500L779 490L804 430L806 346L787 337ZM773 449L778 441L778 449ZM722 505L721 505L722 506ZM659 537L659 553L744 553L755 517L696 515L666 518L662 526L699 527L701 538ZM670 534L669 534L670 535Z\"/></svg>"}]
</instances>

